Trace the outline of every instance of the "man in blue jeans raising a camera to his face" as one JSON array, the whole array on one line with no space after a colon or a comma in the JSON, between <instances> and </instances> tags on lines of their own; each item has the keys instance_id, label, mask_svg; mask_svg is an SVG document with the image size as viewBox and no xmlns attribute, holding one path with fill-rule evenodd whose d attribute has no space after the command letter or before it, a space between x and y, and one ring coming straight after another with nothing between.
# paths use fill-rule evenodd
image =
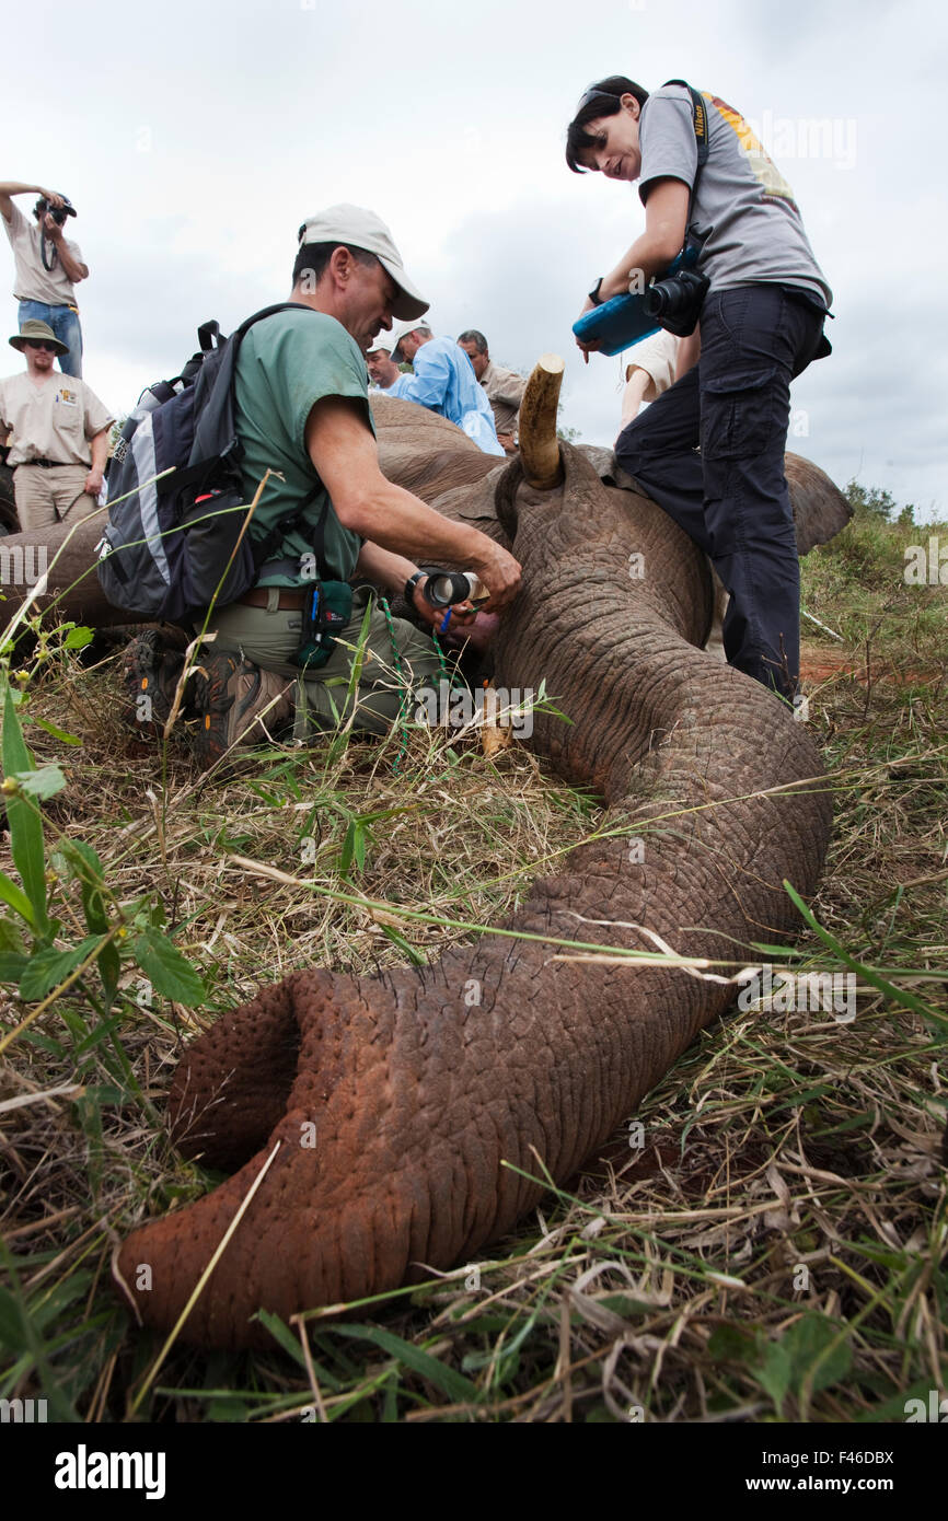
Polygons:
<instances>
[{"instance_id":1,"label":"man in blue jeans raising a camera to his face","mask_svg":"<svg viewBox=\"0 0 948 1521\"><path fill-rule=\"evenodd\" d=\"M29 222L11 196L37 193L33 222ZM47 322L65 353L59 368L67 376L82 376L82 329L73 286L88 278L78 243L64 234L67 216L75 216L68 196L43 186L20 181L0 184L0 214L9 237L17 275L14 297L20 303L20 327L29 321Z\"/></svg>"}]
</instances>

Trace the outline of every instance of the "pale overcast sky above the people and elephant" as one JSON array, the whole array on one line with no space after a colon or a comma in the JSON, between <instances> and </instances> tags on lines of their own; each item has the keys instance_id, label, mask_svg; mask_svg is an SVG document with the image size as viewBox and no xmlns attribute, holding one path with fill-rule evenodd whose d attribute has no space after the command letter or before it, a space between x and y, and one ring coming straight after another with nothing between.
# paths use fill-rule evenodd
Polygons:
<instances>
[{"instance_id":1,"label":"pale overcast sky above the people and elephant","mask_svg":"<svg viewBox=\"0 0 948 1521\"><path fill-rule=\"evenodd\" d=\"M479 327L523 371L563 354L563 420L603 444L619 359L586 368L571 325L644 211L635 186L569 173L565 128L604 75L685 78L756 123L834 289L788 447L948 517L946 33L934 0L38 0L5 56L0 178L79 210L84 374L116 412L198 322L283 300L300 222L355 201L435 332ZM12 333L3 239L0 260Z\"/></svg>"}]
</instances>

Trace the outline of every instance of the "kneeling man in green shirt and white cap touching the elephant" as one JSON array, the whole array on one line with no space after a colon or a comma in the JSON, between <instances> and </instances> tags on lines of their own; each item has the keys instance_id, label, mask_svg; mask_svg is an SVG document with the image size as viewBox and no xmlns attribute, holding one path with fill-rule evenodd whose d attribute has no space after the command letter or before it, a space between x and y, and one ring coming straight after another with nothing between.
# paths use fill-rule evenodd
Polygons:
<instances>
[{"instance_id":1,"label":"kneeling man in green shirt and white cap touching the elephant","mask_svg":"<svg viewBox=\"0 0 948 1521\"><path fill-rule=\"evenodd\" d=\"M309 733L307 715L324 729L345 719L355 657L344 645L359 643L367 610L355 729L385 733L403 687L438 678L431 640L409 622L387 619L374 592L353 589L353 580L390 596L405 592L432 627L443 613L422 595L418 558L475 570L493 611L513 601L520 583L513 555L470 525L441 517L379 468L365 354L393 316L417 321L428 310L391 233L374 211L344 204L309 218L298 242L294 309L256 322L236 367L247 500L266 470L280 472L269 476L250 532L257 541L277 532L253 590L210 619L216 640L201 653L189 689L205 767L234 744L286 727L294 712L300 739ZM332 625L312 625L317 589ZM473 616L463 610L453 621ZM135 698L152 695L158 724L180 668L181 657L164 654L154 634L129 646L128 689Z\"/></svg>"}]
</instances>

